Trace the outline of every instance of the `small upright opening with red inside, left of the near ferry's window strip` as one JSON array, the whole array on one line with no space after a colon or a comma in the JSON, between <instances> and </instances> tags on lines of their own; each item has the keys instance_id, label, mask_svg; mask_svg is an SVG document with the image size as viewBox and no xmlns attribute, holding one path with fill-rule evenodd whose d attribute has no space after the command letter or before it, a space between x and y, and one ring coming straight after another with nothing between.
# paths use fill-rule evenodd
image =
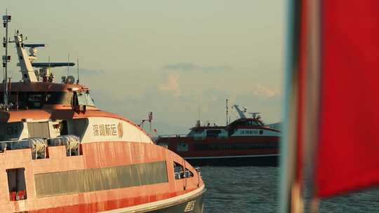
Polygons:
<instances>
[{"instance_id":1,"label":"small upright opening with red inside, left of the near ferry's window strip","mask_svg":"<svg viewBox=\"0 0 379 213\"><path fill-rule=\"evenodd\" d=\"M11 201L27 198L25 186L25 168L6 170L8 177L9 199Z\"/></svg>"}]
</instances>

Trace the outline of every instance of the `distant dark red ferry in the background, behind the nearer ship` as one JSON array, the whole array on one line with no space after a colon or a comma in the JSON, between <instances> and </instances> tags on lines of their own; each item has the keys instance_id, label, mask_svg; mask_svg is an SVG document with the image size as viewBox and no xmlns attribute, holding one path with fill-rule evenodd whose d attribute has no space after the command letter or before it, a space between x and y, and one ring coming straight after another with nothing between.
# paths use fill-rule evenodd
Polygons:
<instances>
[{"instance_id":1,"label":"distant dark red ferry in the background, behind the nearer ship","mask_svg":"<svg viewBox=\"0 0 379 213\"><path fill-rule=\"evenodd\" d=\"M246 108L240 109L236 104L232 108L239 114L232 123L201 125L197 121L187 135L159 135L156 143L175 151L192 165L277 166L281 132L265 125L260 113L248 117Z\"/></svg>"}]
</instances>

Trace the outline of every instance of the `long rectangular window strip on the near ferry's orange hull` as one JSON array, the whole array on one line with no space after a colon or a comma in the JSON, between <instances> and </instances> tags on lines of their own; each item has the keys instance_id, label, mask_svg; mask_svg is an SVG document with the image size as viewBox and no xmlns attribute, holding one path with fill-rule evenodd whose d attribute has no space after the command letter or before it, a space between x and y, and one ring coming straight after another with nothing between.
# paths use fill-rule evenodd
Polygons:
<instances>
[{"instance_id":1,"label":"long rectangular window strip on the near ferry's orange hull","mask_svg":"<svg viewBox=\"0 0 379 213\"><path fill-rule=\"evenodd\" d=\"M34 174L37 197L168 182L166 161Z\"/></svg>"}]
</instances>

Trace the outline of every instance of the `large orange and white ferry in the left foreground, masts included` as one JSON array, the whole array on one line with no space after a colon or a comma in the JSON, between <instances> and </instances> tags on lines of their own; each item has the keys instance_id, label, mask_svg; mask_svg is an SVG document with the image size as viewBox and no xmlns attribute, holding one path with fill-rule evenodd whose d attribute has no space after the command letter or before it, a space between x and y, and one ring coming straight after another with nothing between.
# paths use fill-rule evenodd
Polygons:
<instances>
[{"instance_id":1,"label":"large orange and white ferry in the left foreground, masts included","mask_svg":"<svg viewBox=\"0 0 379 213\"><path fill-rule=\"evenodd\" d=\"M98 109L79 77L54 83L51 68L74 63L36 62L44 44L24 43L19 32L8 39L11 15L3 21L0 212L204 212L198 168L127 118ZM8 43L20 82L6 77Z\"/></svg>"}]
</instances>

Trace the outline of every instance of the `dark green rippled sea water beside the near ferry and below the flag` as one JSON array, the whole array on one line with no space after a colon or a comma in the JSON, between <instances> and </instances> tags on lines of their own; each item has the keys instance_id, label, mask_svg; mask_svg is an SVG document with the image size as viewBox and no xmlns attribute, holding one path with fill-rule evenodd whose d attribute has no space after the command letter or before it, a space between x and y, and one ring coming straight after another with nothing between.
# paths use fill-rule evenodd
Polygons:
<instances>
[{"instance_id":1,"label":"dark green rippled sea water beside the near ferry and below the flag","mask_svg":"<svg viewBox=\"0 0 379 213\"><path fill-rule=\"evenodd\" d=\"M206 213L277 212L279 168L201 167ZM379 188L321 201L319 212L379 213Z\"/></svg>"}]
</instances>

